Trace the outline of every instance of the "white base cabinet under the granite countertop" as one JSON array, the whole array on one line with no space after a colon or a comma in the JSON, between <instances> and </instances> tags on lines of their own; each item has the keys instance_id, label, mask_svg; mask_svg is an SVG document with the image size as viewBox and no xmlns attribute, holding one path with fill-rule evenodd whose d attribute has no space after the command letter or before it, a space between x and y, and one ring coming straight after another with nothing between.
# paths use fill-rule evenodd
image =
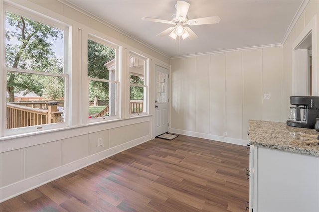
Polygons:
<instances>
[{"instance_id":1,"label":"white base cabinet under the granite countertop","mask_svg":"<svg viewBox=\"0 0 319 212\"><path fill-rule=\"evenodd\" d=\"M319 212L319 157L250 145L250 212Z\"/></svg>"}]
</instances>

